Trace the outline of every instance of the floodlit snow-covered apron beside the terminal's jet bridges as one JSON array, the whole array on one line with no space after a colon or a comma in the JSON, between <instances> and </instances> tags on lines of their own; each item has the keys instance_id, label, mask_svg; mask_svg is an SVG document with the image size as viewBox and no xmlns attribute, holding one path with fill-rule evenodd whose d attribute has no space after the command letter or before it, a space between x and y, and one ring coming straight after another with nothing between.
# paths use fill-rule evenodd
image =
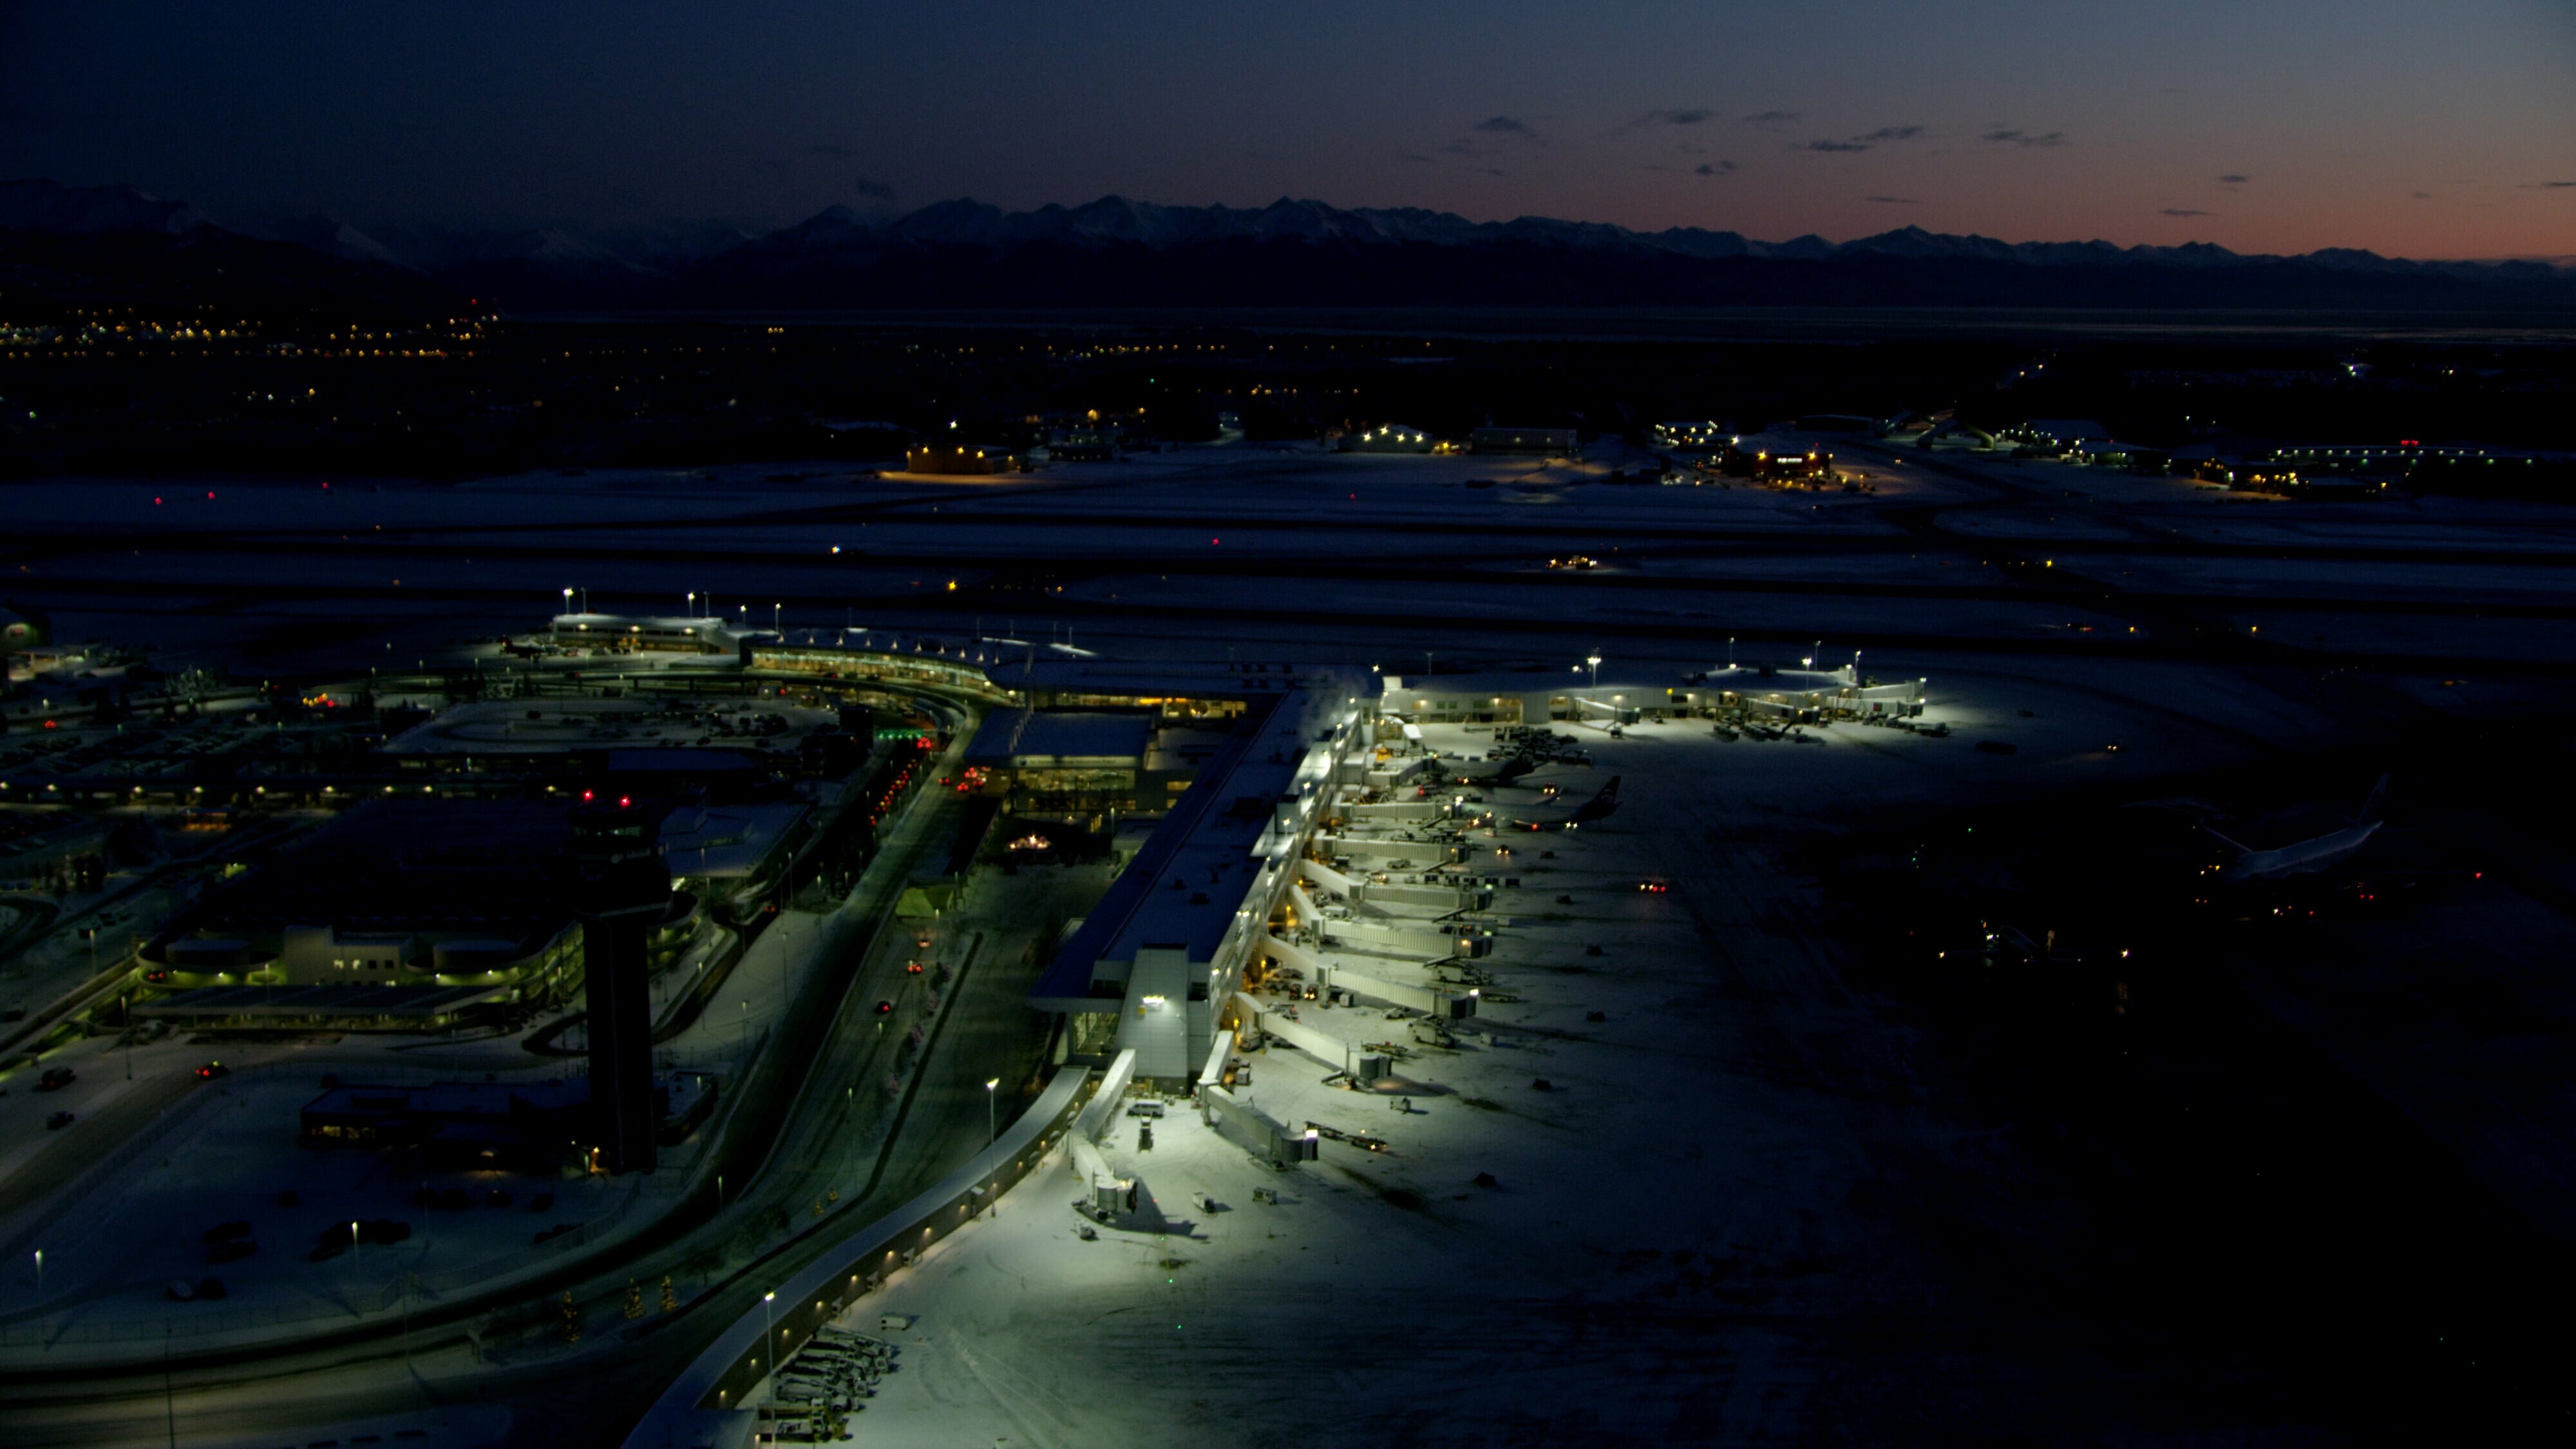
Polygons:
<instances>
[{"instance_id":1,"label":"floodlit snow-covered apron beside the terminal's jet bridges","mask_svg":"<svg viewBox=\"0 0 2576 1449\"><path fill-rule=\"evenodd\" d=\"M1105 1152L1141 1186L1133 1222L1079 1238L1082 1183L1059 1160L853 1307L845 1325L863 1333L909 1318L884 1333L902 1369L853 1415L855 1439L1649 1444L1814 1439L1839 1423L1947 1441L2136 1413L2143 1390L2117 1348L2069 1348L2063 1382L2022 1408L1932 1390L1950 1374L1984 1382L1999 1341L2066 1325L2053 1310L1999 1325L1986 1294L2012 1294L1883 1201L1891 1176L1991 1176L2009 1191L2012 1152L1919 1098L1904 1034L1842 995L1837 946L1772 841L1783 817L1886 820L2223 758L2239 730L2303 724L2259 694L2190 704L2215 719L2156 706L2141 719L2102 681L1978 676L1935 681L1947 740L1587 732L1595 768L1548 766L1486 797L1510 815L1538 786L1577 794L1623 773L1625 810L1579 833L1468 841L1468 869L1520 879L1476 962L1515 1000L1486 1003L1453 1049L1417 1047L1378 1091L1327 1085L1332 1065L1275 1039L1249 1057L1244 1096L1265 1114L1386 1152L1327 1140L1319 1163L1280 1173L1185 1104L1115 1119ZM2128 737L2120 755L2097 748L2112 732ZM1468 727L1425 735L1466 755L1489 743ZM1976 753L1981 735L2022 750ZM1641 892L1649 877L1672 890ZM1368 1006L1306 1003L1303 1021L1347 1042L1406 1039ZM1932 1217L1991 1212L1963 1201ZM1868 1341L1873 1323L1911 1328Z\"/></svg>"}]
</instances>

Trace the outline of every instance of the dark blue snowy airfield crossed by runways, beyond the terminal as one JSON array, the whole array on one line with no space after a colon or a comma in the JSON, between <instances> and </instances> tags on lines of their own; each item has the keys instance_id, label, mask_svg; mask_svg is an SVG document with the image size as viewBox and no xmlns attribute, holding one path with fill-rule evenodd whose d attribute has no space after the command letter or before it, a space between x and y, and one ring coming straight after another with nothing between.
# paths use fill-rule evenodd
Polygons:
<instances>
[{"instance_id":1,"label":"dark blue snowy airfield crossed by runways, beyond the terminal","mask_svg":"<svg viewBox=\"0 0 2576 1449\"><path fill-rule=\"evenodd\" d=\"M2548 557L2576 557L2576 523L2522 503L2262 503L2115 469L1819 441L1878 492L1610 482L1610 454L1638 462L1615 443L1584 464L1229 443L953 482L848 464L330 490L39 480L10 485L13 526L98 541L28 559L13 590L49 606L59 637L270 673L451 655L533 627L567 585L603 611L677 614L698 593L747 624L773 603L788 627L961 634L981 621L1028 637L1069 621L1198 652L1260 637L1260 614L1288 601L1332 614L1334 639L1383 616L1450 650L1522 624L1978 647L2056 642L2069 627L2092 627L2094 645L2130 627L2154 637L2141 616L2174 596L2555 608ZM2071 552L2063 585L1996 562L2050 544ZM2218 552L2177 554L2195 547ZM2272 557L2241 557L2249 547ZM1602 567L1546 575L1561 554ZM2130 611L2123 590L2148 598ZM2339 652L2421 652L2403 624L2313 634ZM2553 645L2512 645L2530 647Z\"/></svg>"}]
</instances>

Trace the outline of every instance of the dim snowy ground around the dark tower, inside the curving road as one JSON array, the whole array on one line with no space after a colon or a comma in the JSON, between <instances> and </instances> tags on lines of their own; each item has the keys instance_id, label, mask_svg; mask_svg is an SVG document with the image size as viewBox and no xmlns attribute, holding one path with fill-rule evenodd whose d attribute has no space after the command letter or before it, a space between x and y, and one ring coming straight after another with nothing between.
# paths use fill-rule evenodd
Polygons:
<instances>
[{"instance_id":1,"label":"dim snowy ground around the dark tower, inside the curving road","mask_svg":"<svg viewBox=\"0 0 2576 1449\"><path fill-rule=\"evenodd\" d=\"M747 1052L778 1026L791 972L811 969L824 918L781 915L726 977L708 1011L659 1044L657 1062L716 1073L732 1083ZM649 1178L533 1173L430 1173L410 1155L296 1145L299 1109L322 1093L322 1075L348 1083L430 1083L500 1075L544 1080L580 1073L580 1060L531 1057L520 1036L443 1042L420 1036L337 1036L294 1044L196 1044L185 1034L126 1055L108 1042L75 1042L13 1078L0 1101L0 1173L59 1140L41 1127L57 1109L98 1116L121 1096L152 1096L162 1111L139 1122L121 1145L103 1145L106 1163L72 1194L57 1194L0 1217L0 1243L26 1253L0 1269L0 1343L113 1343L160 1336L173 1318L188 1336L258 1336L304 1328L332 1315L399 1315L407 1302L484 1287L544 1266L551 1253L652 1222L690 1178L708 1134L665 1150ZM232 1075L185 1088L188 1075L222 1060ZM39 1067L72 1065L80 1080L62 1093L33 1093ZM23 1101L21 1101L23 1098ZM719 1111L732 1106L719 1098ZM77 1127L77 1124L75 1124ZM420 1189L464 1189L466 1209L420 1207ZM507 1194L505 1204L492 1191ZM294 1191L283 1207L278 1194ZM538 1209L538 1194L551 1204ZM309 1261L327 1235L353 1220L410 1222L392 1248ZM209 1266L201 1232L216 1222L250 1222L260 1250ZM536 1232L585 1227L544 1248ZM44 1294L36 1294L33 1248L44 1248ZM167 1305L175 1279L219 1276L222 1302Z\"/></svg>"}]
</instances>

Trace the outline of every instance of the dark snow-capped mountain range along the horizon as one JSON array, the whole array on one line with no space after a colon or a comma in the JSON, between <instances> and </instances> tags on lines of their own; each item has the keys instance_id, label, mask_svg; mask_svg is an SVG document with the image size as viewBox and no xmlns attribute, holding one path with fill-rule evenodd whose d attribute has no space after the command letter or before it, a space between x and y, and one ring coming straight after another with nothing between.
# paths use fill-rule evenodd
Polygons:
<instances>
[{"instance_id":1,"label":"dark snow-capped mountain range along the horizon","mask_svg":"<svg viewBox=\"0 0 2576 1449\"><path fill-rule=\"evenodd\" d=\"M229 263L229 266L227 266ZM1471 222L1412 206L1157 206L1103 196L1005 211L845 206L793 227L229 229L131 186L0 183L0 294L204 294L242 268L314 304L502 309L881 307L2576 307L2576 271L2241 255L2208 242L2002 242L1904 227L1850 242L1602 222Z\"/></svg>"}]
</instances>

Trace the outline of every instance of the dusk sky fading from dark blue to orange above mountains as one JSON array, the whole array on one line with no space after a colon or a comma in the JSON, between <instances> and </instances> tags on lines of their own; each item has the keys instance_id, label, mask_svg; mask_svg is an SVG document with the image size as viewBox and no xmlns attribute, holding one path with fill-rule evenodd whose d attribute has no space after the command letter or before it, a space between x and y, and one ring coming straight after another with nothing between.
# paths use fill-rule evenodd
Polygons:
<instances>
[{"instance_id":1,"label":"dusk sky fading from dark blue to orange above mountains","mask_svg":"<svg viewBox=\"0 0 2576 1449\"><path fill-rule=\"evenodd\" d=\"M216 219L1123 193L2576 253L2576 0L0 0L0 175Z\"/></svg>"}]
</instances>

